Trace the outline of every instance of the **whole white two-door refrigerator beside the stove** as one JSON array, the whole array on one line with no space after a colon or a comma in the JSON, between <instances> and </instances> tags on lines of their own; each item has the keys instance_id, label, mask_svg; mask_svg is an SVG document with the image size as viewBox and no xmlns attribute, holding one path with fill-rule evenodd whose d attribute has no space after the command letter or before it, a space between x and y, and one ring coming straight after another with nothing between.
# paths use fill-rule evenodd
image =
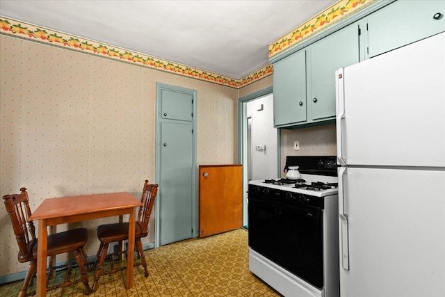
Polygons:
<instances>
[{"instance_id":1,"label":"whole white two-door refrigerator beside the stove","mask_svg":"<svg viewBox=\"0 0 445 297\"><path fill-rule=\"evenodd\" d=\"M336 77L341 297L445 296L445 33Z\"/></svg>"}]
</instances>

